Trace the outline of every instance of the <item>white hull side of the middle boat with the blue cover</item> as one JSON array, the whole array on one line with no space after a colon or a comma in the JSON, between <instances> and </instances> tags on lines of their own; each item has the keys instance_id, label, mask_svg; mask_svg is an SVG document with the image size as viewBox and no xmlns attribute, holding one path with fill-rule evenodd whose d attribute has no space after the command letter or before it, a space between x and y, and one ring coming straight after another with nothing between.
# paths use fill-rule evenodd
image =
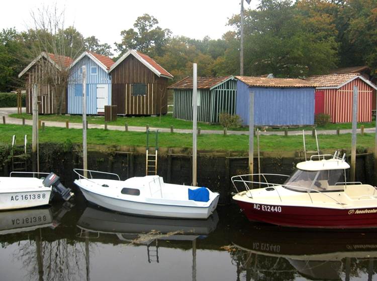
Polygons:
<instances>
[{"instance_id":1,"label":"white hull side of the middle boat with the blue cover","mask_svg":"<svg viewBox=\"0 0 377 281\"><path fill-rule=\"evenodd\" d=\"M209 207L191 207L161 205L142 202L125 201L106 197L85 190L79 186L85 199L101 207L134 215L165 217L165 218L184 218L184 219L207 219L215 211L219 197L212 201Z\"/></svg>"}]
</instances>

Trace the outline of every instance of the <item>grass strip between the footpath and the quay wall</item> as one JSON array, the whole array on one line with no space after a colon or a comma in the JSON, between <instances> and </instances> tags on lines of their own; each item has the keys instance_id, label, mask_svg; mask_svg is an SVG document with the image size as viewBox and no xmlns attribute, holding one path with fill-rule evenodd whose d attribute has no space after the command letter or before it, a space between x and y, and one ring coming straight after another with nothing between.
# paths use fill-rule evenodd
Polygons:
<instances>
[{"instance_id":1,"label":"grass strip between the footpath and the quay wall","mask_svg":"<svg viewBox=\"0 0 377 281\"><path fill-rule=\"evenodd\" d=\"M32 127L12 124L0 124L0 143L11 144L12 136L16 134L18 140L22 140L24 134L28 134L29 142L32 137ZM321 150L341 150L350 151L351 134L337 135L319 135ZM315 140L307 137L307 149L315 149ZM256 137L255 150L256 150ZM82 143L81 129L66 129L58 127L46 127L44 131L39 131L39 141L73 144ZM193 137L188 133L159 133L159 147L165 148L192 148ZM20 141L19 141L20 143ZM22 143L22 142L21 142ZM126 132L104 129L87 130L88 145L106 145L106 146L146 146L145 132ZM374 147L374 134L357 135L357 146L372 149ZM219 134L201 134L198 136L198 150L206 151L248 151L248 135L219 135ZM303 150L302 136L279 136L279 135L261 135L260 136L261 152L295 152Z\"/></svg>"}]
</instances>

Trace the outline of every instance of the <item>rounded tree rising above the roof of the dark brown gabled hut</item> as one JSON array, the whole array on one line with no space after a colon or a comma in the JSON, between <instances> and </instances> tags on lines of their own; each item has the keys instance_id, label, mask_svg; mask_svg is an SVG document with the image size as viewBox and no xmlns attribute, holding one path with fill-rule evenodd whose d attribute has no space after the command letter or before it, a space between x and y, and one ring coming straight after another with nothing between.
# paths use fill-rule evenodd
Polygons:
<instances>
[{"instance_id":1,"label":"rounded tree rising above the roof of the dark brown gabled hut","mask_svg":"<svg viewBox=\"0 0 377 281\"><path fill-rule=\"evenodd\" d=\"M151 56L163 55L162 48L171 35L169 29L160 28L157 19L148 14L138 17L134 28L121 31L122 41L114 43L117 51L124 54L129 49L134 49Z\"/></svg>"}]
</instances>

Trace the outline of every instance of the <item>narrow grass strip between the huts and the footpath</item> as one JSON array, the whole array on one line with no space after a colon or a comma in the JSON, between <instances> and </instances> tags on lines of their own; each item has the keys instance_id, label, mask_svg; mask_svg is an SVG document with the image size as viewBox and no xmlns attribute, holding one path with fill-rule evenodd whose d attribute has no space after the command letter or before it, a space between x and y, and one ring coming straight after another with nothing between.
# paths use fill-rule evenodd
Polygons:
<instances>
[{"instance_id":1,"label":"narrow grass strip between the huts and the footpath","mask_svg":"<svg viewBox=\"0 0 377 281\"><path fill-rule=\"evenodd\" d=\"M14 118L25 117L25 119L32 119L32 115L26 114L26 113L23 113L22 115L14 113L14 114L10 114L10 116ZM82 122L81 115L39 115L39 119L43 121L60 121L60 122L65 122L65 120L69 120L69 122L71 123ZM87 116L87 120L89 124L104 124L105 123L104 116L89 115ZM141 126L141 127L145 127L148 124L151 127L159 127L159 128L170 128L171 125L176 129L192 129L193 128L192 121L175 119L173 118L173 114L171 113L161 116L161 120L159 116L156 116L156 117L118 116L116 121L108 122L109 125L119 125L119 126L124 126L125 123L127 123L129 126ZM358 123L357 127L360 128L361 125L364 125L365 128L372 128L372 127L375 127L375 121L373 120L370 123ZM208 124L208 123L198 122L198 127L201 127L201 129L203 130L223 130L223 127L220 124ZM352 128L352 124L351 123L340 123L340 124L329 123L329 124L326 124L325 126L318 126L317 130L336 130L338 127L340 129L350 129ZM288 130L302 130L302 129L311 130L312 126L289 128ZM228 130L248 131L248 127L229 128ZM284 128L269 127L267 128L267 130L268 131L282 131L284 130Z\"/></svg>"}]
</instances>

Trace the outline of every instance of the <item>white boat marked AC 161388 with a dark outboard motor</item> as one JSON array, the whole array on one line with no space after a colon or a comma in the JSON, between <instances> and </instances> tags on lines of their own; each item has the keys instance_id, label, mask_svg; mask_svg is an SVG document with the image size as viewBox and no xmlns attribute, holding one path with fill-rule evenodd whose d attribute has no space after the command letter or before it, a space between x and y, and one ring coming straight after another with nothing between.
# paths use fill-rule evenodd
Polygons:
<instances>
[{"instance_id":1,"label":"white boat marked AC 161388 with a dark outboard motor","mask_svg":"<svg viewBox=\"0 0 377 281\"><path fill-rule=\"evenodd\" d=\"M73 195L54 173L12 172L9 177L0 177L0 210L48 205L54 193L66 201Z\"/></svg>"}]
</instances>

